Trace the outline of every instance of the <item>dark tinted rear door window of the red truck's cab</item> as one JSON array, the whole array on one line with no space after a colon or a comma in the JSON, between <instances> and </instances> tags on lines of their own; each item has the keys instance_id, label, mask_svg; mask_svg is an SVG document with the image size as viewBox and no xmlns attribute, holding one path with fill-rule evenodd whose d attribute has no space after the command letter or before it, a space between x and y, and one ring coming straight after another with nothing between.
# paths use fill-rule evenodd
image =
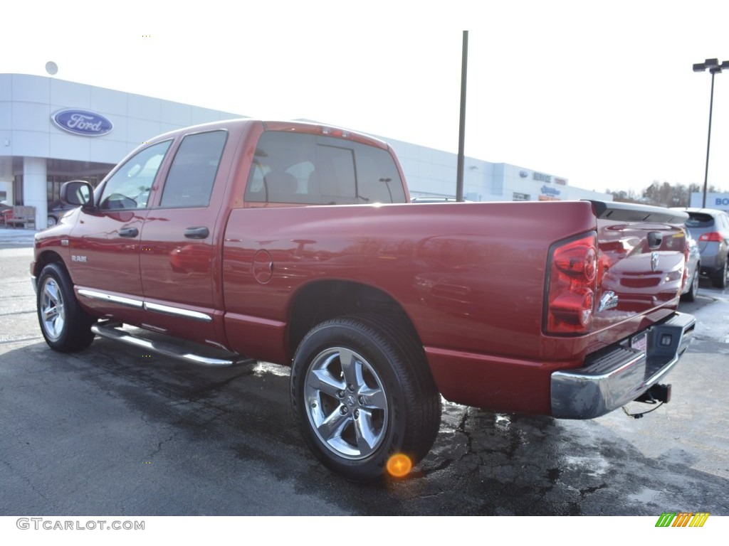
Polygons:
<instances>
[{"instance_id":1,"label":"dark tinted rear door window of the red truck's cab","mask_svg":"<svg viewBox=\"0 0 729 546\"><path fill-rule=\"evenodd\" d=\"M160 206L207 207L226 140L226 131L199 132L183 138L172 160Z\"/></svg>"}]
</instances>

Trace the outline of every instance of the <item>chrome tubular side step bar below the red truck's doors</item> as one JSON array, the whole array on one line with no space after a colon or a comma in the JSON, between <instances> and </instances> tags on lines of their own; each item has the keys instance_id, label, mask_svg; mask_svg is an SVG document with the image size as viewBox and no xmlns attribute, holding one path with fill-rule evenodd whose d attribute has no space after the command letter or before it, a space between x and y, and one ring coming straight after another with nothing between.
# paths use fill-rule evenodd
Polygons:
<instances>
[{"instance_id":1,"label":"chrome tubular side step bar below the red truck's doors","mask_svg":"<svg viewBox=\"0 0 729 546\"><path fill-rule=\"evenodd\" d=\"M216 351L215 349L210 349L202 345L198 345L200 353L192 352L192 350L190 350L192 344L187 341L181 341L179 344L176 344L174 343L174 338L169 336L164 340L147 339L122 330L121 327L121 323L98 323L91 327L91 331L104 338L122 341L126 344L141 347L142 349L147 349L160 355L185 360L186 362L198 365L232 366L236 364L250 364L256 362L254 358L244 357L243 355L237 355L235 353L226 353L222 350ZM208 356L201 354L202 352L205 352L206 349L207 352L217 352L221 356Z\"/></svg>"}]
</instances>

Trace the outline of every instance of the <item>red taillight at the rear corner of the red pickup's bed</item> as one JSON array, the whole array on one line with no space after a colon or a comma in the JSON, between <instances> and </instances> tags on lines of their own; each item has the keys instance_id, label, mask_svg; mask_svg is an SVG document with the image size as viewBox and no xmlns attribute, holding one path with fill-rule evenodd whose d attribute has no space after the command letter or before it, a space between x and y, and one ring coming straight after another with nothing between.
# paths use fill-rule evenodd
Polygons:
<instances>
[{"instance_id":1,"label":"red taillight at the rear corner of the red pickup's bed","mask_svg":"<svg viewBox=\"0 0 729 546\"><path fill-rule=\"evenodd\" d=\"M590 331L597 270L596 234L553 245L547 280L546 333Z\"/></svg>"}]
</instances>

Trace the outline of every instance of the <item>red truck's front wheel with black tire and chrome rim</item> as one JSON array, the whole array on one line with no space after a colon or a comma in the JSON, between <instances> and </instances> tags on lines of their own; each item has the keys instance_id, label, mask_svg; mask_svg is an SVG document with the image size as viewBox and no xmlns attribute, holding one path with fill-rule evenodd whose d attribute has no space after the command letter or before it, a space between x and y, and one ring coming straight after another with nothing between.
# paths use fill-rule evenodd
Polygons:
<instances>
[{"instance_id":1,"label":"red truck's front wheel with black tire and chrome rim","mask_svg":"<svg viewBox=\"0 0 729 546\"><path fill-rule=\"evenodd\" d=\"M74 294L71 278L59 264L48 264L38 277L36 295L38 323L46 343L59 352L85 349L93 341L91 325L95 318L87 314Z\"/></svg>"}]
</instances>

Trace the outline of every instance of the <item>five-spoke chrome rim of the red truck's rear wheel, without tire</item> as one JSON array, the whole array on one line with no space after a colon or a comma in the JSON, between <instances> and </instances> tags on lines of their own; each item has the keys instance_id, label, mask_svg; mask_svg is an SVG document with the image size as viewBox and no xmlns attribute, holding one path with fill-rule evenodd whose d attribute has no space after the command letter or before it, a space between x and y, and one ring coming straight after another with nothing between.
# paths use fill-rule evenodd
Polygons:
<instances>
[{"instance_id":1,"label":"five-spoke chrome rim of the red truck's rear wheel, without tire","mask_svg":"<svg viewBox=\"0 0 729 546\"><path fill-rule=\"evenodd\" d=\"M365 459L382 443L386 392L375 368L351 349L330 347L313 359L304 399L313 431L334 454Z\"/></svg>"}]
</instances>

